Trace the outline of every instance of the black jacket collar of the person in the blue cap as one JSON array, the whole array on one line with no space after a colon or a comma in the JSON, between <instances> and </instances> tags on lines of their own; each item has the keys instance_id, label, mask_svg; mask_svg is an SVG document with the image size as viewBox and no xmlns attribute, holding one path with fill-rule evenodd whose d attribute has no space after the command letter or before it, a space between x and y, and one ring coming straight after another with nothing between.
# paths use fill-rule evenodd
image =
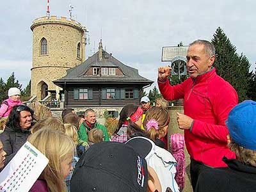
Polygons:
<instances>
[{"instance_id":1,"label":"black jacket collar of the person in the blue cap","mask_svg":"<svg viewBox=\"0 0 256 192\"><path fill-rule=\"evenodd\" d=\"M227 159L227 157L223 157L222 161L224 161L228 165L228 167L232 170L237 170L238 172L256 174L255 166L243 163L241 161L238 161L237 159Z\"/></svg>"}]
</instances>

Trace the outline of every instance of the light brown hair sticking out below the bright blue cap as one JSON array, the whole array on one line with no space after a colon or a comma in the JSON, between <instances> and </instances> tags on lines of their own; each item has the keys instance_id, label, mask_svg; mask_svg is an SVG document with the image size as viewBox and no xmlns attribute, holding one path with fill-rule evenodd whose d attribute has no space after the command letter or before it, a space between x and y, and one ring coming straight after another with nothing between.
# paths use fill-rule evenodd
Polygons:
<instances>
[{"instance_id":1,"label":"light brown hair sticking out below the bright blue cap","mask_svg":"<svg viewBox=\"0 0 256 192\"><path fill-rule=\"evenodd\" d=\"M251 150L248 148L244 148L238 145L236 142L232 141L228 144L230 150L234 151L237 159L246 164L251 164L252 166L256 166L256 150Z\"/></svg>"}]
</instances>

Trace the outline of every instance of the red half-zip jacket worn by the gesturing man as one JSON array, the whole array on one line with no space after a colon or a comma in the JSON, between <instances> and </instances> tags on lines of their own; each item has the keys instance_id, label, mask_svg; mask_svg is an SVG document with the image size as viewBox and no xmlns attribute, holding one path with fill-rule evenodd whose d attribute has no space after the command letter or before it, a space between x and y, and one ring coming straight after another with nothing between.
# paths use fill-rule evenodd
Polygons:
<instances>
[{"instance_id":1,"label":"red half-zip jacket worn by the gesturing man","mask_svg":"<svg viewBox=\"0 0 256 192\"><path fill-rule=\"evenodd\" d=\"M238 97L236 90L216 74L215 68L175 86L169 81L158 82L158 86L164 99L184 99L184 114L194 119L191 129L184 130L191 158L214 168L227 166L223 156L236 158L227 147L225 120Z\"/></svg>"}]
</instances>

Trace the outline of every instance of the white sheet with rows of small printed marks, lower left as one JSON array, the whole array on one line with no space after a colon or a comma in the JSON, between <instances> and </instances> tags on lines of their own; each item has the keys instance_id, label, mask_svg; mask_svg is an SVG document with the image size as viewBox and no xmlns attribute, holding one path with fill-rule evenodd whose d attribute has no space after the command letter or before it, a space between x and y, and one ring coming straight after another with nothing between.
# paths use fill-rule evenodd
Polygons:
<instances>
[{"instance_id":1,"label":"white sheet with rows of small printed marks, lower left","mask_svg":"<svg viewBox=\"0 0 256 192\"><path fill-rule=\"evenodd\" d=\"M28 192L49 160L26 141L0 173L0 191Z\"/></svg>"}]
</instances>

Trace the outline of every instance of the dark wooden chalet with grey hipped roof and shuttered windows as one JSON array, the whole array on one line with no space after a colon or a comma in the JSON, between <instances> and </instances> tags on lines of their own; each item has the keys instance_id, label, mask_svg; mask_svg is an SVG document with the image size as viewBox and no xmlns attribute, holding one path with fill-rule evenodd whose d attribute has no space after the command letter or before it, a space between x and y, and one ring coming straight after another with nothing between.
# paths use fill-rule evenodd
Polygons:
<instances>
[{"instance_id":1,"label":"dark wooden chalet with grey hipped roof and shuttered windows","mask_svg":"<svg viewBox=\"0 0 256 192\"><path fill-rule=\"evenodd\" d=\"M53 83L65 92L65 108L104 108L140 104L143 88L153 81L104 51L100 40L99 51Z\"/></svg>"}]
</instances>

